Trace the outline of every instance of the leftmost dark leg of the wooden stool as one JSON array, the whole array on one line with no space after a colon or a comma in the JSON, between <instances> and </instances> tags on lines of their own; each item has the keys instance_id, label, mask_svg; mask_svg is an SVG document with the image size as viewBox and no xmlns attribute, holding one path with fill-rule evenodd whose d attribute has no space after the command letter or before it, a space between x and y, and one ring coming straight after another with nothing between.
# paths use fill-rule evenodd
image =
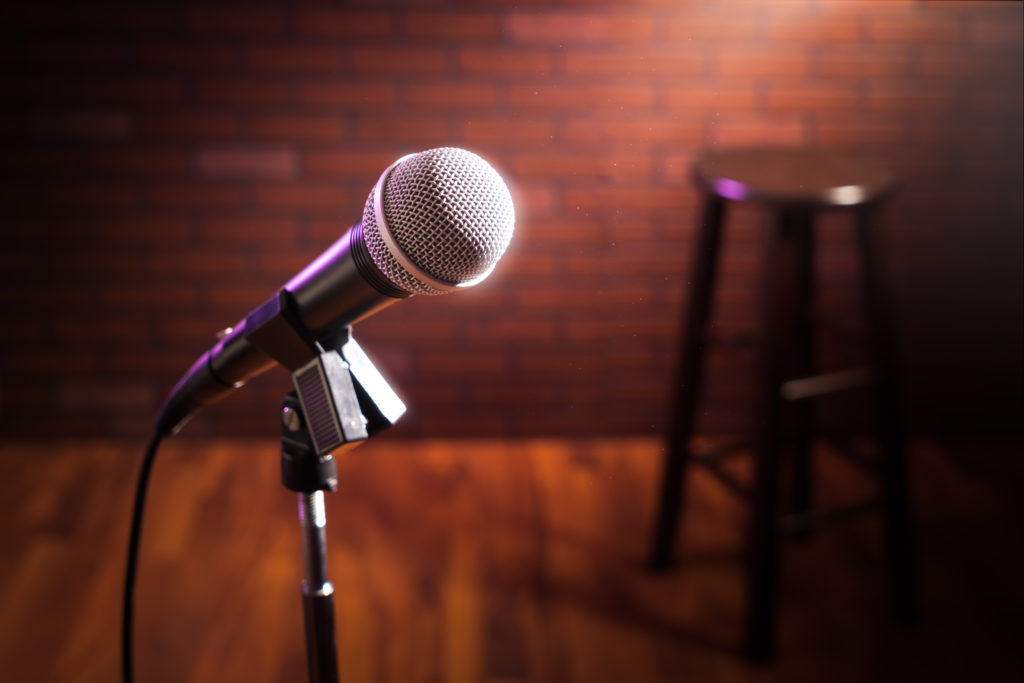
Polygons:
<instances>
[{"instance_id":1,"label":"leftmost dark leg of the wooden stool","mask_svg":"<svg viewBox=\"0 0 1024 683\"><path fill-rule=\"evenodd\" d=\"M725 212L725 202L708 195L699 228L696 253L693 255L693 285L686 308L686 328L680 336L673 385L673 413L670 419L669 452L662 475L660 503L654 523L649 564L652 569L672 565L679 511L683 505L686 482L686 461L693 434L697 398L700 389L700 356L707 337L712 289L718 261L719 236ZM686 297L683 297L686 301Z\"/></svg>"}]
</instances>

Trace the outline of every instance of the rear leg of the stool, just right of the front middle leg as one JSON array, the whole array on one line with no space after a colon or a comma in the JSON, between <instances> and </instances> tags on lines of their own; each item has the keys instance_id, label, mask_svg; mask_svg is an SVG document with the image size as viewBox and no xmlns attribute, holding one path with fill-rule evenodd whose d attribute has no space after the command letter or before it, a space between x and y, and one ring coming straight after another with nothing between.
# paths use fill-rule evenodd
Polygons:
<instances>
[{"instance_id":1,"label":"rear leg of the stool, just right of the front middle leg","mask_svg":"<svg viewBox=\"0 0 1024 683\"><path fill-rule=\"evenodd\" d=\"M797 231L794 370L798 377L809 377L814 373L814 222L810 211L795 214L793 229ZM810 400L799 400L795 409L793 512L799 515L808 512L812 504L814 407Z\"/></svg>"}]
</instances>

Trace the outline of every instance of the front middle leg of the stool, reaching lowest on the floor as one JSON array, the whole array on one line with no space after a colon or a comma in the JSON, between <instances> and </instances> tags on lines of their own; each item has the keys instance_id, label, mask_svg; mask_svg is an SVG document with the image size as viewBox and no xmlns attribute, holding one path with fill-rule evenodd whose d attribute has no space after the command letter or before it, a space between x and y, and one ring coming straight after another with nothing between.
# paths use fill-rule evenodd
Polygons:
<instances>
[{"instance_id":1,"label":"front middle leg of the stool, reaching lowest on the floor","mask_svg":"<svg viewBox=\"0 0 1024 683\"><path fill-rule=\"evenodd\" d=\"M746 559L746 624L743 652L764 660L774 651L775 588L778 572L778 454L781 420L782 334L787 312L784 286L786 257L793 254L796 237L792 215L778 214L778 226L770 230L765 259L761 345L760 415L754 469L754 505Z\"/></svg>"}]
</instances>

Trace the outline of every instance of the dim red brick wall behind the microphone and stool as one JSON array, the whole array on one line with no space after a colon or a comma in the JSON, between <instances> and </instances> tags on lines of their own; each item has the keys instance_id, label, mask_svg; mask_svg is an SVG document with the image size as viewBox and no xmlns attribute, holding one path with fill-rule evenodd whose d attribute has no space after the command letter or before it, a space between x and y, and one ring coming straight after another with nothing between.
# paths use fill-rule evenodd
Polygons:
<instances>
[{"instance_id":1,"label":"dim red brick wall behind the microphone and stool","mask_svg":"<svg viewBox=\"0 0 1024 683\"><path fill-rule=\"evenodd\" d=\"M212 333L360 214L402 154L471 148L512 186L510 253L357 329L400 432L650 432L707 146L871 150L911 414L1019 420L1020 3L7 4L0 433L138 435ZM407 5L407 6L402 6ZM717 317L756 319L764 217L730 224ZM823 307L856 310L848 226ZM853 351L827 345L839 362ZM745 422L749 354L711 355L701 428ZM272 433L283 373L193 433Z\"/></svg>"}]
</instances>

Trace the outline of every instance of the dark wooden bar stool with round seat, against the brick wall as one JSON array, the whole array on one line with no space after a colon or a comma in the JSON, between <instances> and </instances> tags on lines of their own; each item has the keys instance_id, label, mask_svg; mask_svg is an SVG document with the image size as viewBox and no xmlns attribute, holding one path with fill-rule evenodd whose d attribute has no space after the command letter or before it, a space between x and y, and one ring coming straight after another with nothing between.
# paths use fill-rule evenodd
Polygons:
<instances>
[{"instance_id":1,"label":"dark wooden bar stool with round seat, against the brick wall","mask_svg":"<svg viewBox=\"0 0 1024 683\"><path fill-rule=\"evenodd\" d=\"M695 176L706 193L706 204L694 255L691 299L684 309L686 327L680 340L673 426L665 461L651 566L665 569L672 563L686 466L692 463L710 467L753 505L745 566L743 652L753 659L771 657L780 531L806 532L822 520L851 511L810 509L812 425L808 398L867 384L870 380L874 387L880 445L880 458L873 467L881 479L890 605L894 616L911 621L915 613L913 557L896 383L896 347L881 284L882 268L871 220L880 200L893 189L894 178L884 167L863 159L811 150L771 148L710 153L698 161ZM758 392L760 415L754 444L757 462L753 492L718 469L715 456L699 456L689 447L697 413L701 355L727 201L757 202L776 214L776 229L765 268ZM873 368L813 377L813 217L815 211L829 208L847 209L855 219L861 299ZM783 379L787 368L792 368L796 378ZM780 421L785 399L796 402L793 436L795 514L782 525L776 501L782 445Z\"/></svg>"}]
</instances>

